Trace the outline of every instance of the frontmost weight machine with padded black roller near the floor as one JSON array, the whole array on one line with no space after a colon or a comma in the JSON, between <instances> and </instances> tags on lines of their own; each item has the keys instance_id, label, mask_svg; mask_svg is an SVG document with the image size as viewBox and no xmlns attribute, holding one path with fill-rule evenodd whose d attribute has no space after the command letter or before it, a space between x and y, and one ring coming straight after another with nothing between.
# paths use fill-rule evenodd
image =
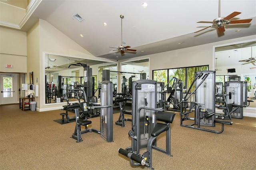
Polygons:
<instances>
[{"instance_id":1,"label":"frontmost weight machine with padded black roller near the floor","mask_svg":"<svg viewBox=\"0 0 256 170\"><path fill-rule=\"evenodd\" d=\"M170 123L175 113L157 109L157 83L153 80L132 81L132 146L118 152L130 159L133 166L152 168L152 148L172 156L170 152ZM162 121L164 123L158 123ZM156 138L166 131L166 150L156 146ZM147 148L142 155L140 149ZM135 161L135 162L134 162Z\"/></svg>"}]
</instances>

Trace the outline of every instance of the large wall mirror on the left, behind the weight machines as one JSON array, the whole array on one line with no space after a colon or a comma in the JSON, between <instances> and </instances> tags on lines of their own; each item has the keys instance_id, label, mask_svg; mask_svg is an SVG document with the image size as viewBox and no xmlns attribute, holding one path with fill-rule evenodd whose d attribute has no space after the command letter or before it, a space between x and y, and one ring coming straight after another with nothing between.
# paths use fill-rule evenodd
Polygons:
<instances>
[{"instance_id":1,"label":"large wall mirror on the left, behind the weight machines","mask_svg":"<svg viewBox=\"0 0 256 170\"><path fill-rule=\"evenodd\" d=\"M98 97L97 87L102 81L102 70L110 69L117 71L117 63L109 61L97 61L92 59L81 59L70 56L54 55L44 53L44 85L45 85L45 104L77 101L76 96L64 95L69 89L79 89L84 83L84 67L72 65L76 63L85 63L92 68L92 77L94 79L94 92ZM110 81L117 84L116 73L112 73Z\"/></svg>"}]
</instances>

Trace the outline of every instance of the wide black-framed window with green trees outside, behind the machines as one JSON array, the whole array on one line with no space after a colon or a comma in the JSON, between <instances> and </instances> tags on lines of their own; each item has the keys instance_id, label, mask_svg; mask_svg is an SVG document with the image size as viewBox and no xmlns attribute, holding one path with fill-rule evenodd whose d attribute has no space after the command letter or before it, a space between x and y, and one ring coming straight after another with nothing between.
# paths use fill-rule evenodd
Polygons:
<instances>
[{"instance_id":1,"label":"wide black-framed window with green trees outside, behind the machines","mask_svg":"<svg viewBox=\"0 0 256 170\"><path fill-rule=\"evenodd\" d=\"M172 84L168 82L172 77L176 77L183 81L184 88L188 89L194 80L196 71L208 70L208 65L196 66L196 67L182 67L174 69L162 69L162 70L153 70L153 80ZM168 81L167 81L168 80ZM168 85L169 86L169 85ZM194 87L192 88L192 90Z\"/></svg>"}]
</instances>

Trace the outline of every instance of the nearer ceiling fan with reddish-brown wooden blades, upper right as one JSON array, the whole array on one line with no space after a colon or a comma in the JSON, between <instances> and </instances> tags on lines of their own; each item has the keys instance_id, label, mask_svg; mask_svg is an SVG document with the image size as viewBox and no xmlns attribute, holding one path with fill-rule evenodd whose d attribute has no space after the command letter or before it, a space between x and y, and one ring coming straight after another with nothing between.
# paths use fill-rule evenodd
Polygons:
<instances>
[{"instance_id":1,"label":"nearer ceiling fan with reddish-brown wooden blades, upper right","mask_svg":"<svg viewBox=\"0 0 256 170\"><path fill-rule=\"evenodd\" d=\"M252 19L247 19L247 20L231 20L232 18L234 18L235 16L241 14L241 12L233 12L232 14L229 14L226 17L220 17L220 0L219 0L219 17L214 19L212 22L211 21L199 21L197 23L210 23L212 24L212 26L208 26L206 28L203 28L202 30L205 30L207 28L212 28L214 26L218 26L218 32L222 33L225 31L224 25L225 24L245 24L245 23L250 23L252 21ZM231 21L230 21L231 20ZM202 30L199 30L197 32L200 32ZM194 32L194 33L197 33Z\"/></svg>"}]
</instances>

